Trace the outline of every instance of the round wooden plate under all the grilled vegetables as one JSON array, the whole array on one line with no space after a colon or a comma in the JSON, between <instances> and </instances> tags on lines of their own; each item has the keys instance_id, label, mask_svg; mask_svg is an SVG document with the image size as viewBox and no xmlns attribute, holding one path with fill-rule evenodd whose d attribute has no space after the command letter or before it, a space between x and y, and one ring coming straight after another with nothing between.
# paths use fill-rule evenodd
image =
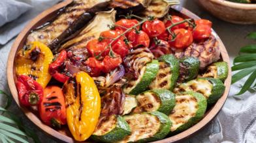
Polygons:
<instances>
[{"instance_id":1,"label":"round wooden plate under all the grilled vegetables","mask_svg":"<svg viewBox=\"0 0 256 143\"><path fill-rule=\"evenodd\" d=\"M31 29L34 29L35 27L42 25L42 23L54 18L57 14L57 10L65 5L68 5L69 3L71 3L71 0L59 3L55 6L53 6L52 8L45 10L44 12L39 14L39 16L34 18L29 24L27 24L27 26L24 28L24 30L22 32L20 32L20 34L16 38L14 44L12 45L12 49L10 49L10 54L8 56L8 63L7 63L8 86L10 88L10 92L12 93L14 100L18 104L18 107L20 107L20 109L22 109L22 111L24 112L25 116L27 116L27 118L29 118L29 120L31 120L31 122L35 123L35 125L37 125L37 127L39 127L42 131L44 131L44 133L54 137L55 139L57 139L59 141L61 140L63 142L75 142L73 140L71 134L69 133L69 130L67 129L67 127L65 127L66 129L61 129L58 131L55 129L52 129L52 127L49 127L48 125L44 125L44 123L42 123L40 121L37 114L34 114L30 110L28 110L25 107L22 107L20 105L19 100L18 100L18 92L17 92L16 86L15 86L16 72L15 72L15 67L14 67L14 57L15 57L17 51L24 46L25 39L26 39L27 35L29 34L29 31L31 31ZM174 6L174 8L175 8L175 6ZM192 12L189 12L189 10L186 10L185 8L178 8L178 9L180 9L181 14L184 16L187 16L189 18L199 19L199 17L195 16L195 14L193 14ZM229 55L227 54L227 51L225 49L225 46L223 45L223 42L221 42L221 40L219 39L219 36L217 36L216 32L213 32L213 33L216 36L217 41L220 44L222 59L225 62L229 63ZM178 135L174 135L174 136L165 138L163 140L159 140L157 142L177 142L184 138L187 138L188 136L190 136L193 133L196 133L197 131L202 129L202 127L204 127L207 123L209 123L214 118L214 116L217 115L219 110L221 110L221 107L225 103L225 100L227 99L227 96L229 94L230 85L231 85L231 70L229 69L229 76L227 77L227 79L225 81L226 89L225 89L223 96L217 101L217 103L211 109L208 110L208 112L205 114L204 118L199 123L197 123L196 125L194 125L193 127L189 128L189 129L187 129L186 131L179 133Z\"/></svg>"}]
</instances>

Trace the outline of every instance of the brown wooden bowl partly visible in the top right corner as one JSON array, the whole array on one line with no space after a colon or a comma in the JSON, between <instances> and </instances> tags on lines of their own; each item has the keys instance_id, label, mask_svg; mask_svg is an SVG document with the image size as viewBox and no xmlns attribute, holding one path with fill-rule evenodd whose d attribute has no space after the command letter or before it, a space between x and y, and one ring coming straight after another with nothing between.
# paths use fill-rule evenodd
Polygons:
<instances>
[{"instance_id":1,"label":"brown wooden bowl partly visible in the top right corner","mask_svg":"<svg viewBox=\"0 0 256 143\"><path fill-rule=\"evenodd\" d=\"M237 24L256 24L256 4L234 3L224 0L197 0L212 15Z\"/></svg>"}]
</instances>

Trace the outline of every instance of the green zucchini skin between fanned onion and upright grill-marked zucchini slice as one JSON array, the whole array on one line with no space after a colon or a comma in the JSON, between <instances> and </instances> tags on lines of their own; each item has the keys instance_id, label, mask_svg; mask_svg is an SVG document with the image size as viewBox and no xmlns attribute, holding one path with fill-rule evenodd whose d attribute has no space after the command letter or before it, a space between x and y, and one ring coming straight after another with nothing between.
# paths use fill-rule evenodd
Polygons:
<instances>
[{"instance_id":1,"label":"green zucchini skin between fanned onion and upright grill-marked zucchini slice","mask_svg":"<svg viewBox=\"0 0 256 143\"><path fill-rule=\"evenodd\" d=\"M144 72L144 75L142 76L142 79L135 86L135 88L133 88L131 92L127 94L137 95L147 90L150 83L153 81L153 79L155 79L158 71L159 62L157 60L152 60L152 62L146 64L146 70Z\"/></svg>"}]
</instances>

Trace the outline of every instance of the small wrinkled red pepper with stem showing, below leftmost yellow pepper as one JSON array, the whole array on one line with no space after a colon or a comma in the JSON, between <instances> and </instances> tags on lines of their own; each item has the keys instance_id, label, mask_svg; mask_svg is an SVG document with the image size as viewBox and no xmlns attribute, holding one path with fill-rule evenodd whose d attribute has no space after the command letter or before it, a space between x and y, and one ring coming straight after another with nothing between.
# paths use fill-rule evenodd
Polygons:
<instances>
[{"instance_id":1,"label":"small wrinkled red pepper with stem showing, below leftmost yellow pepper","mask_svg":"<svg viewBox=\"0 0 256 143\"><path fill-rule=\"evenodd\" d=\"M40 104L43 96L43 88L34 79L27 75L19 75L16 86L20 103L24 106Z\"/></svg>"}]
</instances>

